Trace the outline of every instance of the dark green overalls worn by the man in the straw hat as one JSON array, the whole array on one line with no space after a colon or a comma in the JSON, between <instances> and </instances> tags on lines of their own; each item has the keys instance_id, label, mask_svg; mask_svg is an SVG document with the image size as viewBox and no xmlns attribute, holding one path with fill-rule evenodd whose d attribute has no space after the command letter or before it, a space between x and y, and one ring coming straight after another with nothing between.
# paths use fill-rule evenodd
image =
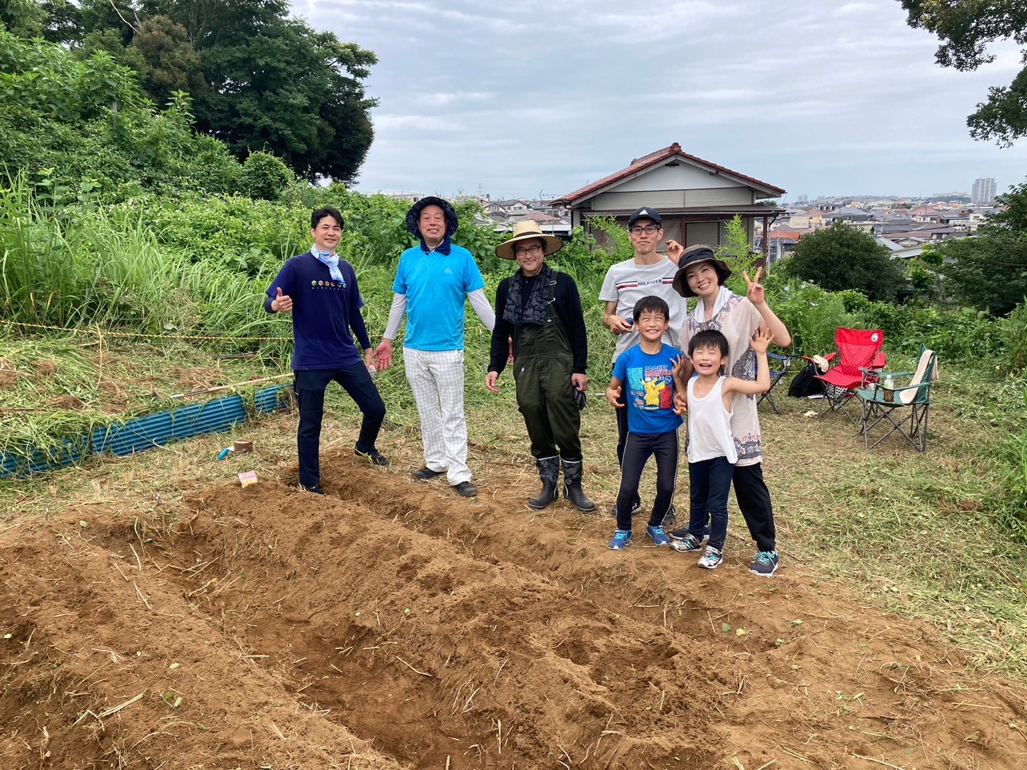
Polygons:
<instances>
[{"instance_id":1,"label":"dark green overalls worn by the man in the straw hat","mask_svg":"<svg viewBox=\"0 0 1027 770\"><path fill-rule=\"evenodd\" d=\"M581 413L574 403L574 358L567 334L553 309L556 275L549 282L545 323L514 326L514 381L517 402L536 460L560 453L581 458Z\"/></svg>"}]
</instances>

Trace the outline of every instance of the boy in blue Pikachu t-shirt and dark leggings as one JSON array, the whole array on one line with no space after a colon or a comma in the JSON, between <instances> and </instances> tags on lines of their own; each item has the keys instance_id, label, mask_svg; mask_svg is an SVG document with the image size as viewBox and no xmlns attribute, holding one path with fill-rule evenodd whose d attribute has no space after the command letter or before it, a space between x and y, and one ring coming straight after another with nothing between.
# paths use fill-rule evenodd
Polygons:
<instances>
[{"instance_id":1,"label":"boy in blue Pikachu t-shirt and dark leggings","mask_svg":"<svg viewBox=\"0 0 1027 770\"><path fill-rule=\"evenodd\" d=\"M671 310L659 297L643 297L635 303L635 329L641 339L617 356L606 389L610 406L627 412L627 439L617 491L617 529L610 541L613 550L632 541L631 503L638 495L642 470L650 456L656 457L656 499L646 530L654 545L671 542L661 523L671 510L677 484L678 428L682 420L674 410L674 393L684 388L684 383L674 373L681 351L662 341L670 317ZM621 402L622 392L625 403Z\"/></svg>"}]
</instances>

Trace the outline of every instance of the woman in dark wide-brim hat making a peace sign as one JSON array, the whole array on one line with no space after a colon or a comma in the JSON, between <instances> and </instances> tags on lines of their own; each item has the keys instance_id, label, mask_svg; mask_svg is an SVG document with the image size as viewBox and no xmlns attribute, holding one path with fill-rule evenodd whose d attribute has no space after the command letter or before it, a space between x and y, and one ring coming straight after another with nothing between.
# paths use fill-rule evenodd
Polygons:
<instances>
[{"instance_id":1,"label":"woman in dark wide-brim hat making a peace sign","mask_svg":"<svg viewBox=\"0 0 1027 770\"><path fill-rule=\"evenodd\" d=\"M750 340L758 329L768 329L773 334L775 345L788 347L792 344L788 329L767 305L763 286L760 285L763 268L758 268L752 279L748 271L743 273L749 293L739 297L724 285L731 270L723 260L717 259L710 246L689 246L682 252L678 265L674 276L675 290L682 297L698 299L695 310L688 314L681 326L682 350L688 350L688 343L695 333L717 330L727 338L728 376L753 381L756 379L756 353ZM692 375L691 362L687 359L684 361L684 375L686 379ZM737 393L731 405L731 434L738 451L732 480L738 510L756 542L756 557L749 569L768 577L776 572L778 557L773 506L763 480L763 438L756 401L755 396ZM683 540L686 534L687 530L681 529L672 532L671 537Z\"/></svg>"}]
</instances>

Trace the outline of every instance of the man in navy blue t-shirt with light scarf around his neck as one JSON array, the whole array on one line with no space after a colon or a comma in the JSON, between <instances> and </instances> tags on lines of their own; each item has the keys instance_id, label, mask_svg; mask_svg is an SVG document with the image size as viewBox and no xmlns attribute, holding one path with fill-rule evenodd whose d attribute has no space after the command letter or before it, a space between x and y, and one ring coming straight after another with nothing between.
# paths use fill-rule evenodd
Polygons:
<instances>
[{"instance_id":1,"label":"man in navy blue t-shirt with light scarf around his neck","mask_svg":"<svg viewBox=\"0 0 1027 770\"><path fill-rule=\"evenodd\" d=\"M385 402L371 379L374 350L360 315L364 298L356 285L353 266L336 255L344 227L335 208L318 208L310 217L313 245L306 254L290 259L267 287L264 309L293 314L293 372L300 427L296 447L300 458L300 487L325 494L320 485L321 418L325 389L335 380L364 414L356 456L374 465L388 465L375 448L385 419ZM356 335L364 357L356 349Z\"/></svg>"}]
</instances>

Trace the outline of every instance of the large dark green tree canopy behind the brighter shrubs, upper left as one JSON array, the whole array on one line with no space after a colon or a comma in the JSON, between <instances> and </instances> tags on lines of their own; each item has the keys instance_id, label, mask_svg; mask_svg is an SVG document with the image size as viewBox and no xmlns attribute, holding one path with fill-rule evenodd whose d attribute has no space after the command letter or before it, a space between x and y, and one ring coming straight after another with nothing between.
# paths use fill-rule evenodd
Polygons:
<instances>
[{"instance_id":1,"label":"large dark green tree canopy behind the brighter shrubs, upper left","mask_svg":"<svg viewBox=\"0 0 1027 770\"><path fill-rule=\"evenodd\" d=\"M28 0L22 0L27 2ZM44 35L105 50L158 105L192 98L196 127L240 160L281 158L310 181L352 182L374 137L373 51L288 15L284 0L45 0Z\"/></svg>"}]
</instances>

